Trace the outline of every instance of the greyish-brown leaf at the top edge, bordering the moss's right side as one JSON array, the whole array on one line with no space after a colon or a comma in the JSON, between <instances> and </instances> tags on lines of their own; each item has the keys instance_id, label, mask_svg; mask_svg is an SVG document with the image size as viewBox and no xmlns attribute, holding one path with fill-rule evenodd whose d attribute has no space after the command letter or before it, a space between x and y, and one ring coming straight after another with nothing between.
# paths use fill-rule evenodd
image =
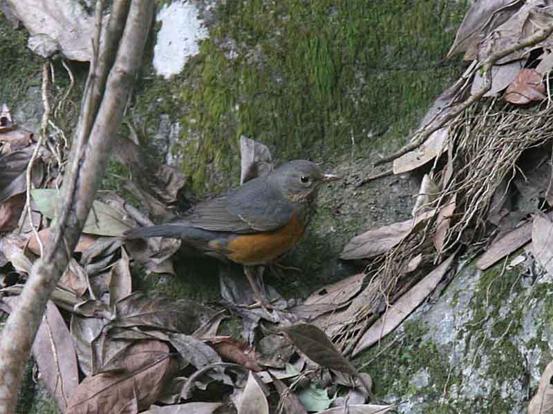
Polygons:
<instances>
[{"instance_id":1,"label":"greyish-brown leaf at the top edge, bordering the moss's right side","mask_svg":"<svg viewBox=\"0 0 553 414\"><path fill-rule=\"evenodd\" d=\"M465 52L465 60L473 60L482 39L516 12L518 0L478 0L474 2L459 26L446 59ZM511 6L511 7L509 7Z\"/></svg>"}]
</instances>

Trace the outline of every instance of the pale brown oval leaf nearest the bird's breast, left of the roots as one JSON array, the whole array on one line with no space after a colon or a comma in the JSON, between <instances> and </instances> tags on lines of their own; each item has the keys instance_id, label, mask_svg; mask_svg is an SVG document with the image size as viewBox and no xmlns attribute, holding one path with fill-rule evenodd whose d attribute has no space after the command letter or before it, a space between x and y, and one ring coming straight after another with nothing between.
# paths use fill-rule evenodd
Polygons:
<instances>
[{"instance_id":1,"label":"pale brown oval leaf nearest the bird's breast, left of the roots","mask_svg":"<svg viewBox=\"0 0 553 414\"><path fill-rule=\"evenodd\" d=\"M346 244L340 254L340 259L364 259L386 253L402 239L409 235L413 227L413 220L400 221L400 223L389 224L362 233L353 237Z\"/></svg>"}]
</instances>

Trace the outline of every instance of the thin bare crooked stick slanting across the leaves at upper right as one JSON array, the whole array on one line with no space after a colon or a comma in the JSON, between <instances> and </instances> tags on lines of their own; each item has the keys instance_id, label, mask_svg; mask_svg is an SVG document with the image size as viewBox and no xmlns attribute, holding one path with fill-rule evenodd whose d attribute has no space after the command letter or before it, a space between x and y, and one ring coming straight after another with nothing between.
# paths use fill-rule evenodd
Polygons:
<instances>
[{"instance_id":1,"label":"thin bare crooked stick slanting across the leaves at upper right","mask_svg":"<svg viewBox=\"0 0 553 414\"><path fill-rule=\"evenodd\" d=\"M489 91L489 89L491 88L491 67L494 66L494 63L496 63L499 59L503 59L503 57L510 55L513 52L516 52L517 50L521 50L523 48L527 48L528 46L535 45L536 43L547 38L552 32L553 32L553 23L545 26L541 30L538 30L536 33L532 34L532 36L529 36L526 39L519 41L513 46L510 46L509 48L505 48L503 50L500 50L499 52L495 52L489 55L487 59L483 60L473 70L473 73L477 72L478 70L484 71L484 86L482 89L478 90L478 92L476 92L474 95L471 95L470 97L468 97L465 101L462 101L461 103L458 103L456 105L449 107L449 110L444 110L440 112L440 114L436 116L426 127L424 127L423 130L417 132L418 137L415 140L411 141L409 144L407 144L397 152L394 152L392 155L388 155L388 157L379 159L378 161L375 162L375 166L379 166L379 165L391 162L399 157L402 157L402 155L405 155L407 152L415 150L416 148L424 144L424 141L426 141L430 137L430 135L432 135L433 132L445 126L445 124L447 124L448 121L451 121L451 119L455 118L462 111L469 108L469 106L471 106L473 103L480 100L480 98L482 98L485 95L485 93Z\"/></svg>"}]
</instances>

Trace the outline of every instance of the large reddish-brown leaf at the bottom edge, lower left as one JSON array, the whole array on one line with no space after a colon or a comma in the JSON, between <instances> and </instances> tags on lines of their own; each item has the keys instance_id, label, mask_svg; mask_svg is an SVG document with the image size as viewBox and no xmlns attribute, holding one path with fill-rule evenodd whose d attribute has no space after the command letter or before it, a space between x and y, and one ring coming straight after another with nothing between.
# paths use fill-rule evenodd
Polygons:
<instances>
[{"instance_id":1,"label":"large reddish-brown leaf at the bottom edge, lower left","mask_svg":"<svg viewBox=\"0 0 553 414\"><path fill-rule=\"evenodd\" d=\"M71 395L67 413L117 413L135 397L144 410L158 399L177 366L163 342L138 342L127 353L124 370L86 377Z\"/></svg>"}]
</instances>

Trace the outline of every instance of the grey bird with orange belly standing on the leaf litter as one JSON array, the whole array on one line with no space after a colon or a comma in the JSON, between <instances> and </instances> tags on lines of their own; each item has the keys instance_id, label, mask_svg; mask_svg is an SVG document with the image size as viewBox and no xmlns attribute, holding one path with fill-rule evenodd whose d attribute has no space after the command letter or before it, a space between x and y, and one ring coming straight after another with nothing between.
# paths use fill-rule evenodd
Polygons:
<instances>
[{"instance_id":1,"label":"grey bird with orange belly standing on the leaf litter","mask_svg":"<svg viewBox=\"0 0 553 414\"><path fill-rule=\"evenodd\" d=\"M129 230L126 239L173 237L203 255L243 264L258 302L265 302L256 284L258 266L277 261L305 233L321 185L341 179L318 164L295 160L256 177L223 195L196 204L178 221Z\"/></svg>"}]
</instances>

